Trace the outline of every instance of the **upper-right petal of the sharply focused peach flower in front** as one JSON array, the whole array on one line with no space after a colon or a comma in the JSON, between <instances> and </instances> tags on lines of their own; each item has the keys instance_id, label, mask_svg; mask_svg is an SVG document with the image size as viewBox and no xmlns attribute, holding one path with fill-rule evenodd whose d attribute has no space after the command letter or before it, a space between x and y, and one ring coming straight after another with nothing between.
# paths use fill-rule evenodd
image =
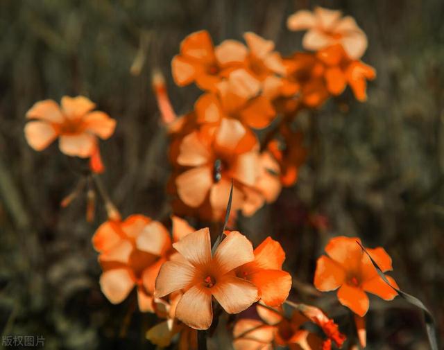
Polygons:
<instances>
[{"instance_id":1,"label":"upper-right petal of the sharply focused peach flower in front","mask_svg":"<svg viewBox=\"0 0 444 350\"><path fill-rule=\"evenodd\" d=\"M214 252L214 261L216 261L219 267L218 271L221 274L225 274L254 259L253 245L246 236L238 231L232 231L225 237Z\"/></svg>"}]
</instances>

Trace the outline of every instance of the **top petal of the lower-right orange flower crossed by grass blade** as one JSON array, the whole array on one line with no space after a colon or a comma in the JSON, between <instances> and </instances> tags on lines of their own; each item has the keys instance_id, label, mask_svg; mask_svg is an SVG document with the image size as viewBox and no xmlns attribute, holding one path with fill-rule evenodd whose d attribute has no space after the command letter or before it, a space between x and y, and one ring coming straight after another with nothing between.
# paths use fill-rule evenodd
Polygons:
<instances>
[{"instance_id":1,"label":"top petal of the lower-right orange flower crossed by grass blade","mask_svg":"<svg viewBox=\"0 0 444 350\"><path fill-rule=\"evenodd\" d=\"M361 243L361 240L356 237L334 237L325 247L325 252L343 268L357 271L362 256L362 250L357 241Z\"/></svg>"}]
</instances>

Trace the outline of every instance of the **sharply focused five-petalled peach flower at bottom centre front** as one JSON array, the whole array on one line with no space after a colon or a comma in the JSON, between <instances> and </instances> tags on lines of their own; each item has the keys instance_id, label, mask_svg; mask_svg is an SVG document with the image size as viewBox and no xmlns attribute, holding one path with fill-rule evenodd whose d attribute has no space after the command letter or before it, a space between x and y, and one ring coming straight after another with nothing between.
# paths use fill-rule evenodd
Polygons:
<instances>
[{"instance_id":1,"label":"sharply focused five-petalled peach flower at bottom centre front","mask_svg":"<svg viewBox=\"0 0 444 350\"><path fill-rule=\"evenodd\" d=\"M234 269L253 261L250 241L231 232L212 255L209 229L188 234L173 247L183 261L167 261L155 282L155 296L164 297L184 290L176 307L176 317L194 329L212 324L212 297L228 313L240 313L257 300L257 289L239 279Z\"/></svg>"}]
</instances>

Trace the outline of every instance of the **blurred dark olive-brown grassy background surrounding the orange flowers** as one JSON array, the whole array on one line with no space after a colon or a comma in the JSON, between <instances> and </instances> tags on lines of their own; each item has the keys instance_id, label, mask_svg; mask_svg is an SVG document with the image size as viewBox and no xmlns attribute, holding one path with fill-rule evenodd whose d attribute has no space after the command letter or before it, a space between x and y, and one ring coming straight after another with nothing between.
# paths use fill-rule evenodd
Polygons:
<instances>
[{"instance_id":1,"label":"blurred dark olive-brown grassy background surrounding the orange flowers","mask_svg":"<svg viewBox=\"0 0 444 350\"><path fill-rule=\"evenodd\" d=\"M117 119L114 136L101 143L105 186L124 217L169 222L168 140L153 68L167 77L176 112L188 112L199 91L176 87L169 66L185 35L205 28L219 44L252 30L289 55L302 49L302 33L286 29L287 17L316 5L355 17L368 35L363 60L377 79L366 103L347 91L301 114L310 152L296 186L241 218L239 229L255 244L268 235L280 240L284 268L295 276L291 298L325 308L345 332L345 308L309 287L316 259L336 235L384 247L392 276L434 312L443 335L443 1L1 0L2 335L42 335L45 349L153 348L144 340L153 317L128 313L130 301L113 306L100 291L90 239L106 220L103 207L92 223L82 196L60 208L78 182L78 162L57 143L35 152L24 139L33 103L82 94ZM317 229L313 216L328 228ZM400 298L370 297L367 319L368 349L429 349L420 313Z\"/></svg>"}]
</instances>

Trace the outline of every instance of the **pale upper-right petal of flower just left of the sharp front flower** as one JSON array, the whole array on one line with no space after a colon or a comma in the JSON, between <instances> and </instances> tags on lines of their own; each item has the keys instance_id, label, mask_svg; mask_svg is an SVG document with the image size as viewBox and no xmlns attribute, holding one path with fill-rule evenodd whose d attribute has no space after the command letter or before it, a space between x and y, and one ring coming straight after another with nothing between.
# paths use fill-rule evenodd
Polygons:
<instances>
[{"instance_id":1,"label":"pale upper-right petal of flower just left of the sharp front flower","mask_svg":"<svg viewBox=\"0 0 444 350\"><path fill-rule=\"evenodd\" d=\"M154 255L162 255L171 247L167 229L158 221L151 221L136 238L138 250Z\"/></svg>"}]
</instances>

